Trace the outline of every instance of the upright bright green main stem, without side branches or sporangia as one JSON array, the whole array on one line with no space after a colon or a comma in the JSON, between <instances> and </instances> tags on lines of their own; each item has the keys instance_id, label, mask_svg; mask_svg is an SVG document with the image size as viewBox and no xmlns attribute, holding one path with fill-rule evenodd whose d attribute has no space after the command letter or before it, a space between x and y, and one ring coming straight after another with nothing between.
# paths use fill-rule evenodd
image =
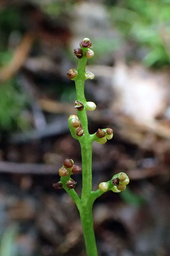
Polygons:
<instances>
[{"instance_id":1,"label":"upright bright green main stem, without side branches or sporangia","mask_svg":"<svg viewBox=\"0 0 170 256\"><path fill-rule=\"evenodd\" d=\"M83 51L85 52L86 49ZM77 111L82 128L84 129L84 135L78 138L81 145L82 156L82 193L79 212L85 238L86 253L88 256L98 256L93 229L93 201L90 197L92 192L92 139L88 131L88 117L86 115L86 99L84 95L86 62L87 60L85 56L78 61L78 75L75 79L77 100L84 104L84 109L82 109L82 111Z\"/></svg>"}]
</instances>

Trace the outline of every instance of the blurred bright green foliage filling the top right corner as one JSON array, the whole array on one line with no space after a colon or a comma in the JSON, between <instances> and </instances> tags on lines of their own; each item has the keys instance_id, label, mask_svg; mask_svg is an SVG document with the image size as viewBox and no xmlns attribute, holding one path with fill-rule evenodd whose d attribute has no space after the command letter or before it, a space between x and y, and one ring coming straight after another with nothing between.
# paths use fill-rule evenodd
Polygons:
<instances>
[{"instance_id":1,"label":"blurred bright green foliage filling the top right corner","mask_svg":"<svg viewBox=\"0 0 170 256\"><path fill-rule=\"evenodd\" d=\"M146 66L170 63L170 0L119 1L109 10L125 40L143 51Z\"/></svg>"}]
</instances>

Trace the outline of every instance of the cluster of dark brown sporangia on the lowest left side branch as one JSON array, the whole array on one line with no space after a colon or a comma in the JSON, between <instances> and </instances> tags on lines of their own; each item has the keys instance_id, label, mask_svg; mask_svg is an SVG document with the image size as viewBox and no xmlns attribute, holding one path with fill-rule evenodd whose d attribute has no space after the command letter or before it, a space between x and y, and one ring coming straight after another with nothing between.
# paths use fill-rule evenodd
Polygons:
<instances>
[{"instance_id":1,"label":"cluster of dark brown sporangia on the lowest left side branch","mask_svg":"<svg viewBox=\"0 0 170 256\"><path fill-rule=\"evenodd\" d=\"M70 176L71 174L77 174L81 172L81 167L78 165L74 165L74 161L72 159L65 159L63 166L59 169L60 177L68 177L66 182L66 186L68 189L74 189L77 182L74 181ZM61 181L53 184L55 189L62 189L63 183Z\"/></svg>"}]
</instances>

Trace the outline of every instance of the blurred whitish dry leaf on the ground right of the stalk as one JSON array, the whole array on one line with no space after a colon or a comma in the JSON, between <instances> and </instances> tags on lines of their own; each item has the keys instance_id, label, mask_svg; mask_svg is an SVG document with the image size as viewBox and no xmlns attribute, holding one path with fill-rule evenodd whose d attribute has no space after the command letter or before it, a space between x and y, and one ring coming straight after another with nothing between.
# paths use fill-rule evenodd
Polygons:
<instances>
[{"instance_id":1,"label":"blurred whitish dry leaf on the ground right of the stalk","mask_svg":"<svg viewBox=\"0 0 170 256\"><path fill-rule=\"evenodd\" d=\"M139 64L118 63L113 72L113 108L136 123L152 123L168 102L168 78L163 72L147 70Z\"/></svg>"}]
</instances>

